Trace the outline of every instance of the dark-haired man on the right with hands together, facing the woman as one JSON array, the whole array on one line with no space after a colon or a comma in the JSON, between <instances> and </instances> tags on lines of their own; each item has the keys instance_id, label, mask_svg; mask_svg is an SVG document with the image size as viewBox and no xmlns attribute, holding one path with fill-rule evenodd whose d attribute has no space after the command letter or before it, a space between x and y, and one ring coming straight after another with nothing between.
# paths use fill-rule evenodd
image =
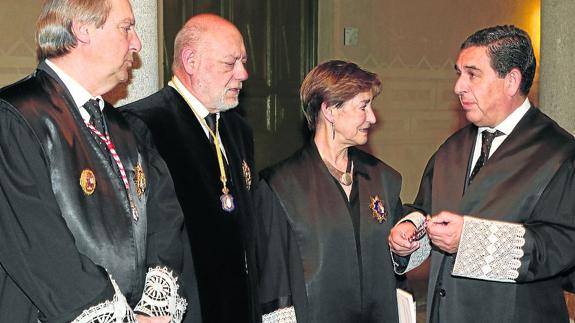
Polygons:
<instances>
[{"instance_id":1,"label":"dark-haired man on the right with hands together, facing the woman","mask_svg":"<svg viewBox=\"0 0 575 323\"><path fill-rule=\"evenodd\" d=\"M389 239L411 255L399 272L432 243L429 322L568 322L561 278L575 265L575 142L529 103L535 65L514 26L461 46L455 93L471 124L433 155L417 212ZM410 239L425 226L427 236Z\"/></svg>"}]
</instances>

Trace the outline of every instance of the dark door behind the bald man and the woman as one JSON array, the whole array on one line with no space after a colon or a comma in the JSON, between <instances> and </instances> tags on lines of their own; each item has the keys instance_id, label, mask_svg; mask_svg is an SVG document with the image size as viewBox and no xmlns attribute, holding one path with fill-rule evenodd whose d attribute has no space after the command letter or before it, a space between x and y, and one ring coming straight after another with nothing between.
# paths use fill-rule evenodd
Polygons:
<instances>
[{"instance_id":1,"label":"dark door behind the bald man and the woman","mask_svg":"<svg viewBox=\"0 0 575 323\"><path fill-rule=\"evenodd\" d=\"M239 109L254 130L262 169L307 140L299 86L316 64L317 0L164 0L165 83L175 34L190 16L208 12L229 19L244 36L250 76Z\"/></svg>"}]
</instances>

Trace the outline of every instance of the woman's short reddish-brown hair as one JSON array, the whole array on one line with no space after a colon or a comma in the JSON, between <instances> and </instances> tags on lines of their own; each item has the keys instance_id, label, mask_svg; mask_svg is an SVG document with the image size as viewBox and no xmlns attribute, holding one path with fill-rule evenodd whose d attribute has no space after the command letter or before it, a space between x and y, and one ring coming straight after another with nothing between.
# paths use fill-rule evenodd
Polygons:
<instances>
[{"instance_id":1,"label":"woman's short reddish-brown hair","mask_svg":"<svg viewBox=\"0 0 575 323\"><path fill-rule=\"evenodd\" d=\"M381 81L376 74L354 63L333 60L316 66L306 75L300 88L309 130L315 131L323 102L339 108L344 102L367 91L371 91L373 97L379 95Z\"/></svg>"}]
</instances>

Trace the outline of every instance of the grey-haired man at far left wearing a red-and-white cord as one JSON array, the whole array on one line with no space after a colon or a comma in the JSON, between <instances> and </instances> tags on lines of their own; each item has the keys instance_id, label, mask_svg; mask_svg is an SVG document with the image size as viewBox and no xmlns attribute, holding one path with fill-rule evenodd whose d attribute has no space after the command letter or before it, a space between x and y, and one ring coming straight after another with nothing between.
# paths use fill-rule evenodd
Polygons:
<instances>
[{"instance_id":1,"label":"grey-haired man at far left wearing a red-and-white cord","mask_svg":"<svg viewBox=\"0 0 575 323\"><path fill-rule=\"evenodd\" d=\"M168 169L101 97L134 25L129 0L48 0L37 70L0 89L0 322L179 322L194 301Z\"/></svg>"}]
</instances>

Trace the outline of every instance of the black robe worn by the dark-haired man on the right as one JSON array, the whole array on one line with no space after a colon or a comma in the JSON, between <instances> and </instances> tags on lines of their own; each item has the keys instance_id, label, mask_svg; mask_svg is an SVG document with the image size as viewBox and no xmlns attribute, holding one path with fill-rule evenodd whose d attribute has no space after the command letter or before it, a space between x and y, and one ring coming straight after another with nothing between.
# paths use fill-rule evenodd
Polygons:
<instances>
[{"instance_id":1,"label":"black robe worn by the dark-haired man on the right","mask_svg":"<svg viewBox=\"0 0 575 323\"><path fill-rule=\"evenodd\" d=\"M523 224L519 276L516 283L452 276L457 255L432 249L428 321L568 322L561 278L575 265L574 139L531 107L465 187L476 135L469 125L439 148L415 207Z\"/></svg>"}]
</instances>

